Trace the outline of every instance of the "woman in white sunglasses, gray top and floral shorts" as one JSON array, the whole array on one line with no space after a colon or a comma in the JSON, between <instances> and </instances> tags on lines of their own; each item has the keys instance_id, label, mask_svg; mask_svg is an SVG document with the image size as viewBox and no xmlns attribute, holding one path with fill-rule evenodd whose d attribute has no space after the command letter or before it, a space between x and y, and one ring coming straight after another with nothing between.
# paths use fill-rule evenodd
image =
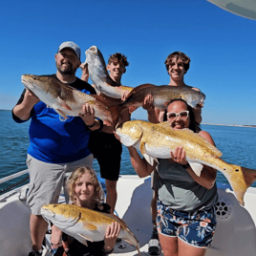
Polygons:
<instances>
[{"instance_id":1,"label":"woman in white sunglasses, gray top and floral shorts","mask_svg":"<svg viewBox=\"0 0 256 256\"><path fill-rule=\"evenodd\" d=\"M188 128L214 145L211 136L201 131L193 110L182 99L167 106L165 118L174 130ZM198 177L180 146L170 159L159 159L153 165L141 159L136 148L128 147L133 167L139 177L146 177L158 168L159 199L157 225L164 256L202 256L211 245L216 227L214 203L218 200L217 171L203 166Z\"/></svg>"}]
</instances>

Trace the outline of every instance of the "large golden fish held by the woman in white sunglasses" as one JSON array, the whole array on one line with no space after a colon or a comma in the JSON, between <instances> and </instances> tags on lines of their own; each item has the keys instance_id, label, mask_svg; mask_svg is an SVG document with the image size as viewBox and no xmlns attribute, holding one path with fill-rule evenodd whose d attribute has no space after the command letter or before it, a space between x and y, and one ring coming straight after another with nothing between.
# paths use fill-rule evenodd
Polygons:
<instances>
[{"instance_id":1,"label":"large golden fish held by the woman in white sunglasses","mask_svg":"<svg viewBox=\"0 0 256 256\"><path fill-rule=\"evenodd\" d=\"M200 176L203 165L222 172L236 198L244 205L246 189L256 180L256 170L230 164L221 159L222 153L206 139L189 129L173 130L169 122L154 124L142 120L127 121L117 126L117 136L125 146L134 146L149 162L170 159L170 152L182 146L186 160Z\"/></svg>"}]
</instances>

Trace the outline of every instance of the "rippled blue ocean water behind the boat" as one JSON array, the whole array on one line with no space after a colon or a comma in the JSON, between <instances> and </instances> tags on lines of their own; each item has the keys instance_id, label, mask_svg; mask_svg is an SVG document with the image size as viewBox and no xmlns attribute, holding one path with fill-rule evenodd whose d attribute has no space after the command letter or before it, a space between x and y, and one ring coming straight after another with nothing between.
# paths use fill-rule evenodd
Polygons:
<instances>
[{"instance_id":1,"label":"rippled blue ocean water behind the boat","mask_svg":"<svg viewBox=\"0 0 256 256\"><path fill-rule=\"evenodd\" d=\"M29 125L29 121L21 124L15 123L12 120L11 111L0 110L0 179L27 169ZM256 169L256 128L204 124L202 129L212 136L216 146L223 153L223 160ZM96 160L94 168L96 172L99 172ZM125 146L123 146L120 174L136 174ZM0 184L0 189L23 180L25 177ZM228 183L221 172L218 172L217 181ZM256 187L256 182L252 186Z\"/></svg>"}]
</instances>

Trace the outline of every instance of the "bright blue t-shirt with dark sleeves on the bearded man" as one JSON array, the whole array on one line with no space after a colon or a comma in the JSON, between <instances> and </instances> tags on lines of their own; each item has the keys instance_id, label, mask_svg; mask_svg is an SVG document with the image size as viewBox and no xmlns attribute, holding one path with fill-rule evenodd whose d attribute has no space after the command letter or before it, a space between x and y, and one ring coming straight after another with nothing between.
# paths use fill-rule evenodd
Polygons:
<instances>
[{"instance_id":1,"label":"bright blue t-shirt with dark sleeves on the bearded man","mask_svg":"<svg viewBox=\"0 0 256 256\"><path fill-rule=\"evenodd\" d=\"M55 75L53 77L56 78ZM79 78L70 85L86 94L96 94L89 83ZM17 104L22 100L23 96ZM18 117L14 116L13 119L22 122ZM91 154L88 147L90 130L81 117L69 117L64 121L42 101L32 109L29 134L31 143L28 154L36 160L65 163L81 160Z\"/></svg>"}]
</instances>

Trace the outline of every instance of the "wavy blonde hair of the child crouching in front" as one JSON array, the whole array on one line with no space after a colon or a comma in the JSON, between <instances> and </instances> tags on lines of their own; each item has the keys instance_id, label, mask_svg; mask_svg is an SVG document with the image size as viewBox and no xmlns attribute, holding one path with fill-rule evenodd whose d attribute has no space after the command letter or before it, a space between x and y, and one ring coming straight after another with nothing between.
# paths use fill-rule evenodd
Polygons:
<instances>
[{"instance_id":1,"label":"wavy blonde hair of the child crouching in front","mask_svg":"<svg viewBox=\"0 0 256 256\"><path fill-rule=\"evenodd\" d=\"M90 177L92 179L92 181L94 182L95 185L95 193L93 195L93 201L96 204L100 204L103 203L104 201L104 192L101 188L101 185L99 184L99 181L96 178L96 172L88 167L78 167L70 176L69 180L67 181L67 190L69 192L69 196L70 196L70 200L72 201L72 203L76 204L76 198L75 198L75 184L76 181L78 181L78 179L81 178L81 176L83 174L85 174L86 172L88 172L90 174Z\"/></svg>"}]
</instances>

